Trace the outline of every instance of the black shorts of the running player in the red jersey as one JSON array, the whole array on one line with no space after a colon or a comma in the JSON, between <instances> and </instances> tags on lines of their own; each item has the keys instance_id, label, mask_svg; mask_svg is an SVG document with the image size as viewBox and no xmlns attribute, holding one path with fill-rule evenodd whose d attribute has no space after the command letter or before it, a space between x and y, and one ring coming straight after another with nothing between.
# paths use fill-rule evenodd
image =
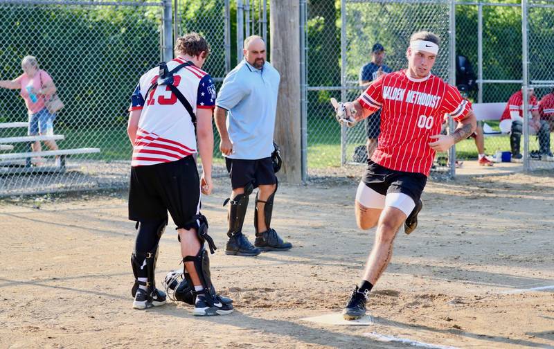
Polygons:
<instances>
[{"instance_id":1,"label":"black shorts of the running player in the red jersey","mask_svg":"<svg viewBox=\"0 0 554 349\"><path fill-rule=\"evenodd\" d=\"M361 181L381 195L403 193L411 197L415 204L418 204L425 184L427 184L427 176L417 172L391 170L369 160Z\"/></svg>"}]
</instances>

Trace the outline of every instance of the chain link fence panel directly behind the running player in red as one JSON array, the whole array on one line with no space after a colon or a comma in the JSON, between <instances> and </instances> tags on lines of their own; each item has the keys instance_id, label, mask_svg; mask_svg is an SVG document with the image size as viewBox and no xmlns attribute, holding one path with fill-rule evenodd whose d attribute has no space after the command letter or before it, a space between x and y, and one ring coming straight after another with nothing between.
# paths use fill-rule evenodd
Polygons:
<instances>
[{"instance_id":1,"label":"chain link fence panel directly behind the running player in red","mask_svg":"<svg viewBox=\"0 0 554 349\"><path fill-rule=\"evenodd\" d=\"M307 3L307 168L366 163L364 123L346 129L333 117L329 100L354 100L362 88L359 73L379 42L384 63L407 67L409 37L431 30L443 43L434 74L449 79L450 1L312 0ZM441 155L446 158L446 155ZM446 171L446 163L435 170ZM309 172L308 172L309 173Z\"/></svg>"}]
</instances>

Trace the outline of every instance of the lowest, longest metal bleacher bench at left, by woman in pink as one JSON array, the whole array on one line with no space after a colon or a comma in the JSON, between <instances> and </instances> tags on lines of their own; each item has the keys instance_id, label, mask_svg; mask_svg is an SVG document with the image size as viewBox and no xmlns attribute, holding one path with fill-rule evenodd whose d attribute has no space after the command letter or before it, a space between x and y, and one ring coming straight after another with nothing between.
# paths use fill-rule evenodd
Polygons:
<instances>
[{"instance_id":1,"label":"lowest, longest metal bleacher bench at left, by woman in pink","mask_svg":"<svg viewBox=\"0 0 554 349\"><path fill-rule=\"evenodd\" d=\"M0 154L0 161L10 161L15 159L26 159L25 165L23 168L1 168L0 174L29 174L29 173L41 173L41 172L65 172L66 163L65 159L67 155L73 154L91 154L100 152L100 148L77 148L77 149L66 149L66 150L45 150L43 152L21 152L21 153L7 153ZM55 166L38 166L33 167L31 165L30 159L34 156L60 156L60 167ZM0 162L0 166L3 163Z\"/></svg>"}]
</instances>

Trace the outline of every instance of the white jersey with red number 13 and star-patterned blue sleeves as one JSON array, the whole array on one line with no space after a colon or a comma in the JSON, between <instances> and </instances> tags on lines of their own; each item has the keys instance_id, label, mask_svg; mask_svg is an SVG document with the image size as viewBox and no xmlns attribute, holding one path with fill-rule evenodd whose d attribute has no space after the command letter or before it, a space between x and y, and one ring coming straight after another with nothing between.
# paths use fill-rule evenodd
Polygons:
<instances>
[{"instance_id":1,"label":"white jersey with red number 13 and star-patterned blue sleeves","mask_svg":"<svg viewBox=\"0 0 554 349\"><path fill-rule=\"evenodd\" d=\"M168 62L168 69L185 63L177 57ZM159 67L151 69L137 85L129 111L141 109L139 130L133 145L131 165L155 165L177 161L197 152L193 121L184 105L169 87L155 87L145 96L158 79ZM173 84L188 100L196 114L199 108L213 109L215 87L208 73L196 66L186 66L174 74Z\"/></svg>"}]
</instances>

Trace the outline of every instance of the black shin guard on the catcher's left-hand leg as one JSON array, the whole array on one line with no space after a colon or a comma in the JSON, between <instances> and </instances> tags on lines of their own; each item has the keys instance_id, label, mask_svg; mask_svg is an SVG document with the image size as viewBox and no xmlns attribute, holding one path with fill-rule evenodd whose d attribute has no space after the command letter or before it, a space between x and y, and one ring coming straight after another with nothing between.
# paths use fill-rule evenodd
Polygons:
<instances>
[{"instance_id":1,"label":"black shin guard on the catcher's left-hand leg","mask_svg":"<svg viewBox=\"0 0 554 349\"><path fill-rule=\"evenodd\" d=\"M159 241L159 238L163 234L163 231L166 230L167 224L168 224L167 220L163 220L155 224L137 222L136 229L137 231L141 231L141 229L148 229L149 231L147 231L147 233L157 234L158 241ZM154 231L152 231L152 229L154 229ZM139 285L148 287L150 291L153 291L154 289L156 289L154 274L156 270L156 262L158 260L158 253L159 253L158 244L156 244L152 248L152 250L148 252L133 251L131 255L131 267L133 269L133 274L134 274L134 285L131 289L131 294L133 297L135 296L136 289L139 288ZM148 278L148 281L146 283L139 281L138 279L143 277Z\"/></svg>"}]
</instances>

